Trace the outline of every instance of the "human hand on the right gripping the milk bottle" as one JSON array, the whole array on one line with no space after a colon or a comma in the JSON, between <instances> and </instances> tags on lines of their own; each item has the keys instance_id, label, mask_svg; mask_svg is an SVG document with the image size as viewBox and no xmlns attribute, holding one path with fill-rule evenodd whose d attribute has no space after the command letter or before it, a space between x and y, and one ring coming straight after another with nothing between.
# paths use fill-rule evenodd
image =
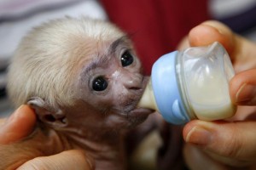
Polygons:
<instances>
[{"instance_id":1,"label":"human hand on the right gripping the milk bottle","mask_svg":"<svg viewBox=\"0 0 256 170\"><path fill-rule=\"evenodd\" d=\"M183 128L185 160L190 169L256 168L256 44L207 21L189 32L187 44L204 46L221 42L230 54L236 76L230 82L230 98L238 106L236 116L226 121L195 120Z\"/></svg>"}]
</instances>

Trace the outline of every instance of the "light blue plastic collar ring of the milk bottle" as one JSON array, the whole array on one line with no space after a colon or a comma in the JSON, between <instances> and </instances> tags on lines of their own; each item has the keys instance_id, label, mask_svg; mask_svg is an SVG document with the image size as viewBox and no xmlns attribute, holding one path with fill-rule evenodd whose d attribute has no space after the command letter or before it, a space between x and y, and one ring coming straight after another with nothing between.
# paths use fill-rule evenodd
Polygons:
<instances>
[{"instance_id":1,"label":"light blue plastic collar ring of the milk bottle","mask_svg":"<svg viewBox=\"0 0 256 170\"><path fill-rule=\"evenodd\" d=\"M184 124L190 118L183 104L176 72L178 52L165 54L158 59L152 69L152 88L160 114L166 122Z\"/></svg>"}]
</instances>

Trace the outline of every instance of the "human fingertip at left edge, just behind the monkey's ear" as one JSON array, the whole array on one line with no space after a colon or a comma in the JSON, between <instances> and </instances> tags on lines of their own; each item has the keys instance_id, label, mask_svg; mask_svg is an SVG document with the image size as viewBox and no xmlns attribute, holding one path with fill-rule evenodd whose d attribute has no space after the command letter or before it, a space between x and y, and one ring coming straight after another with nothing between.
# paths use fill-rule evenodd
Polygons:
<instances>
[{"instance_id":1,"label":"human fingertip at left edge, just behind the monkey's ear","mask_svg":"<svg viewBox=\"0 0 256 170\"><path fill-rule=\"evenodd\" d=\"M32 133L36 115L28 105L21 105L0 127L0 144L9 144Z\"/></svg>"}]
</instances>

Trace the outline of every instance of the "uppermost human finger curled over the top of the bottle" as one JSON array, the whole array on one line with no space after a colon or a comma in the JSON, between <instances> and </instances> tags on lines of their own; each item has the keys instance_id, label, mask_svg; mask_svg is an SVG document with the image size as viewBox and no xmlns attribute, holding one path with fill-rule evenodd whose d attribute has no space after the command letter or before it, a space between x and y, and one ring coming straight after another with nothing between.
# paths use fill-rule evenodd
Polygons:
<instances>
[{"instance_id":1,"label":"uppermost human finger curled over the top of the bottle","mask_svg":"<svg viewBox=\"0 0 256 170\"><path fill-rule=\"evenodd\" d=\"M228 26L208 20L189 31L190 46L206 46L212 42L220 42L230 54L236 72L256 68L254 56L256 44L235 34Z\"/></svg>"}]
</instances>

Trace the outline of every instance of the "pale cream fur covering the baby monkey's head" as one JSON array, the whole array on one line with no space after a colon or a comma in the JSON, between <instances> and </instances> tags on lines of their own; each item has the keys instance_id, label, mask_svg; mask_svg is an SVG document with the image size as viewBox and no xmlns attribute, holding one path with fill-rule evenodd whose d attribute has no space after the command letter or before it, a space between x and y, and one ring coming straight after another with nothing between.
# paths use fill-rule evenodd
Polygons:
<instances>
[{"instance_id":1,"label":"pale cream fur covering the baby monkey's head","mask_svg":"<svg viewBox=\"0 0 256 170\"><path fill-rule=\"evenodd\" d=\"M95 46L122 36L123 32L108 22L83 17L51 20L38 26L23 38L12 59L8 82L11 98L16 105L34 95L52 104L72 105L77 56L83 58L88 53L83 44Z\"/></svg>"}]
</instances>

